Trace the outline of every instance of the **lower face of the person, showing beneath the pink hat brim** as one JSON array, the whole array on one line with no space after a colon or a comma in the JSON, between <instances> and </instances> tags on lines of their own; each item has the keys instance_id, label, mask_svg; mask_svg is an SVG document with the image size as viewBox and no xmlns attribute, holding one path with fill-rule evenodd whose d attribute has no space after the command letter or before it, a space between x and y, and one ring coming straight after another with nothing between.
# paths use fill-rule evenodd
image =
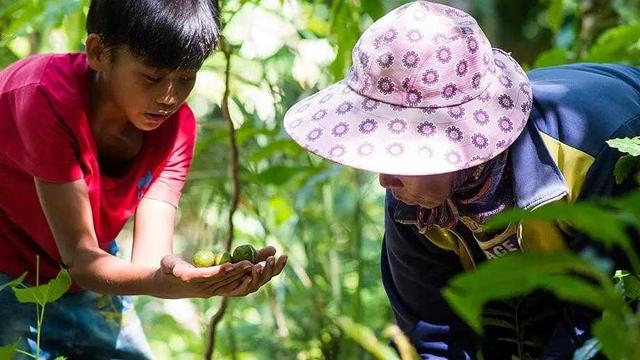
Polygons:
<instances>
[{"instance_id":1,"label":"lower face of the person, showing beneath the pink hat brim","mask_svg":"<svg viewBox=\"0 0 640 360\"><path fill-rule=\"evenodd\" d=\"M449 198L453 174L421 176L379 174L379 180L382 187L391 190L393 196L403 203L432 209Z\"/></svg>"}]
</instances>

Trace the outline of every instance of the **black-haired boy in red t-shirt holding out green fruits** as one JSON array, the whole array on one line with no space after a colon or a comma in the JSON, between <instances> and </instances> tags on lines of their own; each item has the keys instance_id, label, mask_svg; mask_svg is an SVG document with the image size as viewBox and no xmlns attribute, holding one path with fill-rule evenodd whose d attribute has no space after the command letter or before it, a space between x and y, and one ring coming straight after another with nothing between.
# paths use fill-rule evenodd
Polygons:
<instances>
[{"instance_id":1,"label":"black-haired boy in red t-shirt holding out green fruits","mask_svg":"<svg viewBox=\"0 0 640 360\"><path fill-rule=\"evenodd\" d=\"M172 255L196 136L184 102L218 41L218 16L210 0L94 0L86 53L0 72L0 252L10 255L0 282L28 271L35 283L39 255L41 283L63 266L76 285L47 308L45 354L148 358L122 295L244 296L282 271L286 257L276 262L272 247L259 252L264 269L194 268ZM113 239L131 216L129 262L113 255ZM32 306L8 289L0 318L0 344L34 339Z\"/></svg>"}]
</instances>

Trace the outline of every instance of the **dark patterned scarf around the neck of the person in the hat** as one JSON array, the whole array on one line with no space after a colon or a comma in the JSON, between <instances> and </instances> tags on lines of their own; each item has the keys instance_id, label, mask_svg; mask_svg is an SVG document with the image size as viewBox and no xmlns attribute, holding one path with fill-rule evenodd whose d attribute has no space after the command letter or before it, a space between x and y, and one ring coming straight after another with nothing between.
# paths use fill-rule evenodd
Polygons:
<instances>
[{"instance_id":1,"label":"dark patterned scarf around the neck of the person in the hat","mask_svg":"<svg viewBox=\"0 0 640 360\"><path fill-rule=\"evenodd\" d=\"M512 172L507 159L505 151L484 164L458 171L446 202L433 209L418 207L420 232L425 233L434 225L452 229L462 216L484 224L491 216L512 207Z\"/></svg>"}]
</instances>

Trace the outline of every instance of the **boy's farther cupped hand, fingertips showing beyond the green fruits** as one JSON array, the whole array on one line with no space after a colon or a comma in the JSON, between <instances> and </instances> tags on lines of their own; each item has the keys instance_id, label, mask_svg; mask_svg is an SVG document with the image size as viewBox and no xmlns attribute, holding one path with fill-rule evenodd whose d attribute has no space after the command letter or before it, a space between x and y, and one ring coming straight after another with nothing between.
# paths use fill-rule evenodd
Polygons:
<instances>
[{"instance_id":1,"label":"boy's farther cupped hand, fingertips showing beyond the green fruits","mask_svg":"<svg viewBox=\"0 0 640 360\"><path fill-rule=\"evenodd\" d=\"M222 296L245 296L256 292L262 285L266 284L274 276L279 275L287 263L287 256L283 255L276 261L274 255L276 249L273 246L267 246L258 250L257 264L255 264L249 276L245 276L242 281L233 286L229 284L220 289Z\"/></svg>"}]
</instances>

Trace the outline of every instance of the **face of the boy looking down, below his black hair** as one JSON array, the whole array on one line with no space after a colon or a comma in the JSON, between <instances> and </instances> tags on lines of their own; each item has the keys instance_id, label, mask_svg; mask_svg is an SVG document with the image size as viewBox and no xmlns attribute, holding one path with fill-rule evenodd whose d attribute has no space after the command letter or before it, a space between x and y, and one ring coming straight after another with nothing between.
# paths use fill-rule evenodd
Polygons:
<instances>
[{"instance_id":1,"label":"face of the boy looking down, below his black hair","mask_svg":"<svg viewBox=\"0 0 640 360\"><path fill-rule=\"evenodd\" d=\"M107 51L92 67L102 73L117 111L144 131L159 127L186 101L198 71L153 68L126 48Z\"/></svg>"}]
</instances>

